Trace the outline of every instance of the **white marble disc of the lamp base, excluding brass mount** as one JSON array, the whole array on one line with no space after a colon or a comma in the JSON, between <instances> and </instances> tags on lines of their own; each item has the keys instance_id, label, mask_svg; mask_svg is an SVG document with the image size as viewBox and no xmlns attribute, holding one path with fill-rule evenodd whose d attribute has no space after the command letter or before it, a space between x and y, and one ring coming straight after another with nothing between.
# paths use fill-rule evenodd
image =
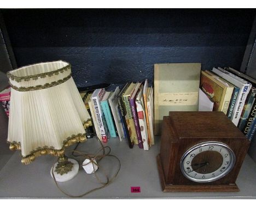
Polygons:
<instances>
[{"instance_id":1,"label":"white marble disc of the lamp base, excluding brass mount","mask_svg":"<svg viewBox=\"0 0 256 208\"><path fill-rule=\"evenodd\" d=\"M54 176L55 176L55 179L56 181L58 182L64 182L64 181L68 181L68 180L71 180L74 178L74 176L76 176L78 174L78 170L79 170L79 164L76 160L74 159L71 159L71 158L68 158L68 161L69 162L72 162L73 163L73 168L71 171L69 171L68 173L66 174L57 174L55 171L53 171L54 173ZM55 170L55 167L57 166L58 162L56 162L54 164L54 167L51 168L51 177L53 177L53 174L52 174L52 169Z\"/></svg>"}]
</instances>

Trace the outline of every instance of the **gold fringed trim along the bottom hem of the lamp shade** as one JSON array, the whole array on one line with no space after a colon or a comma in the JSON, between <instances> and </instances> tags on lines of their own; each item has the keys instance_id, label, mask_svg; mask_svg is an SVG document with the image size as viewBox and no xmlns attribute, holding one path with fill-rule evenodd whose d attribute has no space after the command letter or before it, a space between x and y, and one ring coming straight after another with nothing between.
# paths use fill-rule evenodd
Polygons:
<instances>
[{"instance_id":1,"label":"gold fringed trim along the bottom hem of the lamp shade","mask_svg":"<svg viewBox=\"0 0 256 208\"><path fill-rule=\"evenodd\" d=\"M78 143L78 142L85 142L86 136L85 134L79 133L77 135L72 135L71 137L68 137L66 140L63 141L63 148L60 150L54 149L53 146L44 146L43 148L38 147L36 150L33 150L30 152L29 155L26 157L22 157L21 163L23 164L30 164L33 162L36 157L41 155L53 155L60 157L64 154L65 148L68 146L71 146L72 144ZM20 142L11 142L10 143L10 150L20 150L21 144Z\"/></svg>"}]
</instances>

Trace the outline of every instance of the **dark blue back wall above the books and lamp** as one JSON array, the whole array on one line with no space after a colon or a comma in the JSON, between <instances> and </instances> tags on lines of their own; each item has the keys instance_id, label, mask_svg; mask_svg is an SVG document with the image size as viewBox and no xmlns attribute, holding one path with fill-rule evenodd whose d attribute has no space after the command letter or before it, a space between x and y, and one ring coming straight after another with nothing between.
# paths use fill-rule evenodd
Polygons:
<instances>
[{"instance_id":1,"label":"dark blue back wall above the books and lamp","mask_svg":"<svg viewBox=\"0 0 256 208\"><path fill-rule=\"evenodd\" d=\"M240 69L255 16L243 9L4 9L18 66L72 65L78 87L153 83L154 63Z\"/></svg>"}]
</instances>

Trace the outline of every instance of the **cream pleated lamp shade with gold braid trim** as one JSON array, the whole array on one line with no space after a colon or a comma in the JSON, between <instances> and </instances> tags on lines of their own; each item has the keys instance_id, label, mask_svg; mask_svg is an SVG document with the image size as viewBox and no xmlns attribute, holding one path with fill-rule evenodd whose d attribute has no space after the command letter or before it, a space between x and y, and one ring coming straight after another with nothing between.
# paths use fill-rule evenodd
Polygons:
<instances>
[{"instance_id":1,"label":"cream pleated lamp shade with gold braid trim","mask_svg":"<svg viewBox=\"0 0 256 208\"><path fill-rule=\"evenodd\" d=\"M66 146L86 140L84 124L90 119L62 60L9 71L11 85L8 143L20 149L22 162L37 156L60 156Z\"/></svg>"}]
</instances>

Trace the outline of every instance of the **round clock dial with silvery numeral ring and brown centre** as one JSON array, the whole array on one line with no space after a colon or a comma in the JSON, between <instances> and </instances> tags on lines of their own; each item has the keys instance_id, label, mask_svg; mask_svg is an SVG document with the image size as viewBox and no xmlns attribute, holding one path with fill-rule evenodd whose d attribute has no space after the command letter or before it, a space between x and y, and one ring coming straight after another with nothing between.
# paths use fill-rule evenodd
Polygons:
<instances>
[{"instance_id":1,"label":"round clock dial with silvery numeral ring and brown centre","mask_svg":"<svg viewBox=\"0 0 256 208\"><path fill-rule=\"evenodd\" d=\"M228 145L204 142L186 151L181 159L183 175L191 181L211 182L228 174L235 164L235 154Z\"/></svg>"}]
</instances>

